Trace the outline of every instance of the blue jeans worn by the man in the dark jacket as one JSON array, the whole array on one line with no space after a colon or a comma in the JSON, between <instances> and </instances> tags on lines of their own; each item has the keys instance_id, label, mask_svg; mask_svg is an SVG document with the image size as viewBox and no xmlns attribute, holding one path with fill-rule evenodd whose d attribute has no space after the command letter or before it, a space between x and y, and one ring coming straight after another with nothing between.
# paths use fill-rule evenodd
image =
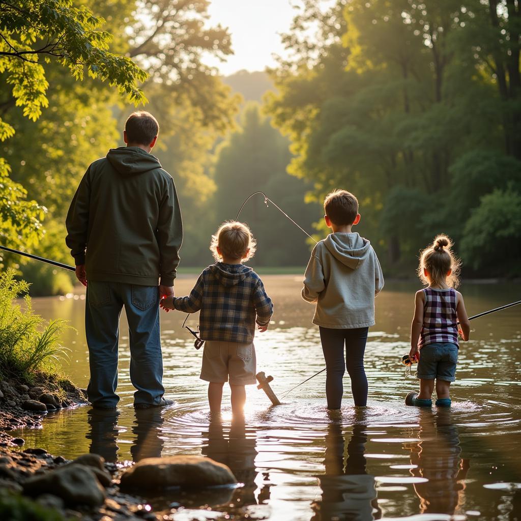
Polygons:
<instances>
[{"instance_id":1,"label":"blue jeans worn by the man in the dark jacket","mask_svg":"<svg viewBox=\"0 0 521 521\"><path fill-rule=\"evenodd\" d=\"M159 289L120 282L89 281L85 334L89 347L89 401L115 407L118 383L119 317L125 306L129 324L130 380L134 404L159 404L165 393L159 336Z\"/></svg>"}]
</instances>

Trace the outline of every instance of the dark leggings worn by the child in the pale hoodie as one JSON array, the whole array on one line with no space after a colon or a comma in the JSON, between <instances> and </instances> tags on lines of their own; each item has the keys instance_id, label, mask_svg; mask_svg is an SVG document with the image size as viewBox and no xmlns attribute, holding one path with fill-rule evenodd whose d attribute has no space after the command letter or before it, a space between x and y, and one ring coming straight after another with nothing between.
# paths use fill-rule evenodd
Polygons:
<instances>
[{"instance_id":1,"label":"dark leggings worn by the child in the pale hoodie","mask_svg":"<svg viewBox=\"0 0 521 521\"><path fill-rule=\"evenodd\" d=\"M320 327L320 341L326 360L326 397L328 409L339 409L344 388L345 367L351 378L355 405L367 404L367 377L364 370L364 351L369 328L329 329ZM345 359L344 359L345 344Z\"/></svg>"}]
</instances>

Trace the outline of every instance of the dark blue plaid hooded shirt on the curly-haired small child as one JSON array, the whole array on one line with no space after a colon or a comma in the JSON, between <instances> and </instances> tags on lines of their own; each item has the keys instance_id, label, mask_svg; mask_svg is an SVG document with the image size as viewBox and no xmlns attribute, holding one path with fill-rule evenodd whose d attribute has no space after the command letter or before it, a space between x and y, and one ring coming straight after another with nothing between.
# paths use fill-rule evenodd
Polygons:
<instances>
[{"instance_id":1,"label":"dark blue plaid hooded shirt on the curly-haired small child","mask_svg":"<svg viewBox=\"0 0 521 521\"><path fill-rule=\"evenodd\" d=\"M273 304L261 278L241 264L217 262L197 279L190 295L173 299L173 307L185 313L201 311L202 340L251 342L255 322L269 324Z\"/></svg>"}]
</instances>

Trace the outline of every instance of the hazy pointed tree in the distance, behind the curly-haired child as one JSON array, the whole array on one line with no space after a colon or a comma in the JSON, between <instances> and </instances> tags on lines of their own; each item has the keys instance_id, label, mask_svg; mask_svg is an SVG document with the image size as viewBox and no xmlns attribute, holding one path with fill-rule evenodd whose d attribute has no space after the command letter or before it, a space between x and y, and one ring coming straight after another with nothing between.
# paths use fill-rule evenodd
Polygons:
<instances>
[{"instance_id":1,"label":"hazy pointed tree in the distance, behind the curly-haired child","mask_svg":"<svg viewBox=\"0 0 521 521\"><path fill-rule=\"evenodd\" d=\"M240 130L230 135L217 149L214 181L217 189L211 207L215 219L206 232L201 246L205 256L210 233L222 221L234 219L242 202L252 192L261 190L308 232L321 212L318 205L303 204L309 185L287 175L290 160L288 140L261 115L259 106L247 104L241 118ZM261 195L251 199L241 212L257 239L254 266L305 265L309 248L305 235L273 205L265 205ZM202 253L203 253L202 252Z\"/></svg>"}]
</instances>

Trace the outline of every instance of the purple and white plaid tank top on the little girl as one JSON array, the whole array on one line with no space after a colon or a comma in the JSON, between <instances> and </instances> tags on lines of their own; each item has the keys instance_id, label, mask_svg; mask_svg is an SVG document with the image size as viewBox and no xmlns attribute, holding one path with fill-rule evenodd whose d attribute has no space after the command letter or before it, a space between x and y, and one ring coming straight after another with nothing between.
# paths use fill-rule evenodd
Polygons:
<instances>
[{"instance_id":1,"label":"purple and white plaid tank top on the little girl","mask_svg":"<svg viewBox=\"0 0 521 521\"><path fill-rule=\"evenodd\" d=\"M435 290L424 288L424 323L421 327L418 348L435 342L456 344L457 340L457 293L453 288Z\"/></svg>"}]
</instances>

